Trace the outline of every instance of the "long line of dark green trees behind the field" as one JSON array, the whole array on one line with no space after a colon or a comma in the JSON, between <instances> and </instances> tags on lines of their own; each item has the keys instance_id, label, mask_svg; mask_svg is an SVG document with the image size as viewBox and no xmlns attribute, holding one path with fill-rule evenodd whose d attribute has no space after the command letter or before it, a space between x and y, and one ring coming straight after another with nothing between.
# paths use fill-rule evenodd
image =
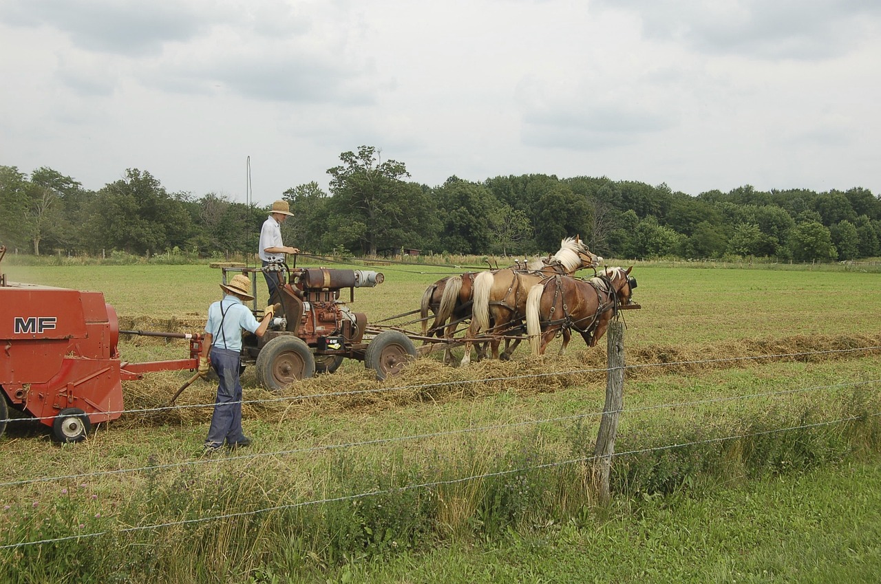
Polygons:
<instances>
[{"instance_id":1,"label":"long line of dark green trees behind the field","mask_svg":"<svg viewBox=\"0 0 881 584\"><path fill-rule=\"evenodd\" d=\"M881 255L881 197L868 189L758 191L690 196L666 184L455 176L410 181L402 162L373 146L340 154L329 189L309 182L280 194L294 217L285 243L305 252L386 255L402 248L456 255L535 255L580 234L607 257L771 257L796 262ZM129 169L92 191L57 171L0 166L0 245L34 255L170 251L198 257L255 253L268 207L228 196L170 193Z\"/></svg>"}]
</instances>

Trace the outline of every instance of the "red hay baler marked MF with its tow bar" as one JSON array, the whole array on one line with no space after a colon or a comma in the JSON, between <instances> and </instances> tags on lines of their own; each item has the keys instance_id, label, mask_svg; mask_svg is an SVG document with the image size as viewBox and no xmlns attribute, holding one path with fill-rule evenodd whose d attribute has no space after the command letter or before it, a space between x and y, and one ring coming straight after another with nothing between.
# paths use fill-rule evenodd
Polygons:
<instances>
[{"instance_id":1,"label":"red hay baler marked MF with its tow bar","mask_svg":"<svg viewBox=\"0 0 881 584\"><path fill-rule=\"evenodd\" d=\"M7 282L0 273L0 434L11 407L50 426L56 440L83 440L93 424L122 415L122 380L196 369L202 336L163 336L189 338L189 359L125 363L103 293Z\"/></svg>"}]
</instances>

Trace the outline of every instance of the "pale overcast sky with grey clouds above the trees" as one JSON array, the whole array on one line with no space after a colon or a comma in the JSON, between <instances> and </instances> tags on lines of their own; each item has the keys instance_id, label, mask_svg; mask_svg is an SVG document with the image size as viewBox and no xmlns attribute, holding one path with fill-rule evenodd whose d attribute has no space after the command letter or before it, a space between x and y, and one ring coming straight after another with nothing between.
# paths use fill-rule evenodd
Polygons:
<instances>
[{"instance_id":1,"label":"pale overcast sky with grey clouds above the trees","mask_svg":"<svg viewBox=\"0 0 881 584\"><path fill-rule=\"evenodd\" d=\"M270 203L375 146L429 186L881 194L878 0L0 0L0 165Z\"/></svg>"}]
</instances>

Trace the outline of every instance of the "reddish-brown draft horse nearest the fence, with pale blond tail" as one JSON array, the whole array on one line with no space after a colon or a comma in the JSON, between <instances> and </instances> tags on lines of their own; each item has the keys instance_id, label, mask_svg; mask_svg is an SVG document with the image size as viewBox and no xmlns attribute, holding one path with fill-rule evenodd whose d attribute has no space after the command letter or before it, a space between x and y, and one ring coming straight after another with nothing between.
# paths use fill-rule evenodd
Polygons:
<instances>
[{"instance_id":1,"label":"reddish-brown draft horse nearest the fence, with pale blond tail","mask_svg":"<svg viewBox=\"0 0 881 584\"><path fill-rule=\"evenodd\" d=\"M533 355L544 355L557 331L563 333L559 354L566 351L571 329L581 333L589 347L596 346L618 306L630 303L636 278L633 266L606 268L596 277L548 277L529 291L526 299L526 333Z\"/></svg>"}]
</instances>

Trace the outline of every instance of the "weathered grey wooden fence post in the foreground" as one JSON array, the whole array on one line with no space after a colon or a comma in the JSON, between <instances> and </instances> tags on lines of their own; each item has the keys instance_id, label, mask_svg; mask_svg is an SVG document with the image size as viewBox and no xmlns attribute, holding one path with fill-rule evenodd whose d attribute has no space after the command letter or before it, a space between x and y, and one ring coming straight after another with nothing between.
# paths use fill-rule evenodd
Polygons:
<instances>
[{"instance_id":1,"label":"weathered grey wooden fence post in the foreground","mask_svg":"<svg viewBox=\"0 0 881 584\"><path fill-rule=\"evenodd\" d=\"M624 323L617 318L609 323L606 331L608 353L608 372L606 373L606 403L600 431L596 434L594 450L597 497L600 505L608 505L611 500L609 477L611 457L615 454L615 436L618 433L618 418L624 408Z\"/></svg>"}]
</instances>

